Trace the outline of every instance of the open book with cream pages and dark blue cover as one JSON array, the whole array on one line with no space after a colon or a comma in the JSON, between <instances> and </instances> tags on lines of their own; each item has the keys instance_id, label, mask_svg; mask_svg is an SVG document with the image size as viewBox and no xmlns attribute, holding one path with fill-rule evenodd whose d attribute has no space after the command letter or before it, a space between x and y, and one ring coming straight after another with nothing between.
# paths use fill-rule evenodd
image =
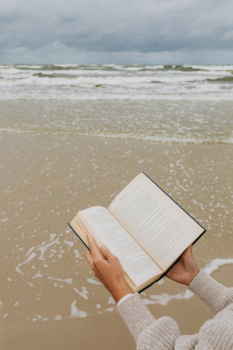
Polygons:
<instances>
[{"instance_id":1,"label":"open book with cream pages and dark blue cover","mask_svg":"<svg viewBox=\"0 0 233 350\"><path fill-rule=\"evenodd\" d=\"M137 175L108 209L81 210L69 226L87 248L86 231L99 250L107 245L121 262L132 293L158 281L206 231L145 173Z\"/></svg>"}]
</instances>

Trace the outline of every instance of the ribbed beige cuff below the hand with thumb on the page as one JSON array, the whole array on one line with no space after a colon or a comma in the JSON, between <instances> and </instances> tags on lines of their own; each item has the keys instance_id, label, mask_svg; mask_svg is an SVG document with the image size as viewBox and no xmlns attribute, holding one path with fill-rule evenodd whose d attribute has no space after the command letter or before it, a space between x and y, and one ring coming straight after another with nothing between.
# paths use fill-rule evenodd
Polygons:
<instances>
[{"instance_id":1,"label":"ribbed beige cuff below the hand with thumb on the page","mask_svg":"<svg viewBox=\"0 0 233 350\"><path fill-rule=\"evenodd\" d=\"M125 321L136 343L141 332L155 321L154 316L141 301L138 293L130 295L117 305L117 311Z\"/></svg>"}]
</instances>

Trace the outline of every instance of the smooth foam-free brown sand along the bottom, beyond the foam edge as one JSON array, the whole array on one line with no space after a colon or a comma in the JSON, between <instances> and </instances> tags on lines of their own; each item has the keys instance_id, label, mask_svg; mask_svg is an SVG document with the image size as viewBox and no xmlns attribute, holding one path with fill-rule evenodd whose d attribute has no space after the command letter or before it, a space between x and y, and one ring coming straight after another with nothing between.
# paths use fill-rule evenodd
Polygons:
<instances>
[{"instance_id":1,"label":"smooth foam-free brown sand along the bottom, beyond the foam edge","mask_svg":"<svg viewBox=\"0 0 233 350\"><path fill-rule=\"evenodd\" d=\"M232 265L220 267L212 277L231 287ZM198 333L201 325L214 315L198 299L175 300L168 306L149 306L155 318L170 316L179 324L182 334ZM115 310L114 313L72 318L61 321L22 322L5 325L2 331L2 349L135 349L128 328Z\"/></svg>"}]
</instances>

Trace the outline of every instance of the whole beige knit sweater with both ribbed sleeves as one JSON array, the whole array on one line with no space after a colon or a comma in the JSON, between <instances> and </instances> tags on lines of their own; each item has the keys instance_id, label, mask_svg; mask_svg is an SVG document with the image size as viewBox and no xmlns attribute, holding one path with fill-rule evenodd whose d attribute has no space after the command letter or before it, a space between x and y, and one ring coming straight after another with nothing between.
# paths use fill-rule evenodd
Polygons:
<instances>
[{"instance_id":1,"label":"whole beige knit sweater with both ribbed sleeves","mask_svg":"<svg viewBox=\"0 0 233 350\"><path fill-rule=\"evenodd\" d=\"M138 293L117 306L136 341L137 350L233 349L233 288L224 287L203 270L188 288L216 314L202 325L198 334L181 335L178 324L168 316L156 320Z\"/></svg>"}]
</instances>

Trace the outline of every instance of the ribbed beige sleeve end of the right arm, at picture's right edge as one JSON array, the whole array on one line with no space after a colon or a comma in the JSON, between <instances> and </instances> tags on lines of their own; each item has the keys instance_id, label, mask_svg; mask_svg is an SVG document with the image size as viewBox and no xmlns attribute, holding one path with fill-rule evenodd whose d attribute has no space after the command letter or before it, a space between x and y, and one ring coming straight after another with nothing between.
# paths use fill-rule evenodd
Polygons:
<instances>
[{"instance_id":1,"label":"ribbed beige sleeve end of the right arm, at picture's right edge","mask_svg":"<svg viewBox=\"0 0 233 350\"><path fill-rule=\"evenodd\" d=\"M227 288L201 270L188 286L217 314L233 302L233 288Z\"/></svg>"}]
</instances>

